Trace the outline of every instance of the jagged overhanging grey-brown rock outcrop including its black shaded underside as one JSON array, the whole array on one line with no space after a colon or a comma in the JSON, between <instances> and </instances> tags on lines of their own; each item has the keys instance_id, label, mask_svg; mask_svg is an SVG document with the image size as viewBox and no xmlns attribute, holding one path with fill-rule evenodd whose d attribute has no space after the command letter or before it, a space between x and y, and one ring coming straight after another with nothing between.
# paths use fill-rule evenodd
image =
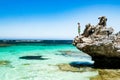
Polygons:
<instances>
[{"instance_id":1,"label":"jagged overhanging grey-brown rock outcrop including its black shaded underside","mask_svg":"<svg viewBox=\"0 0 120 80\"><path fill-rule=\"evenodd\" d=\"M113 34L114 29L106 27L106 21L104 16L96 26L87 24L83 34L75 37L73 45L90 55L95 67L120 68L120 32Z\"/></svg>"}]
</instances>

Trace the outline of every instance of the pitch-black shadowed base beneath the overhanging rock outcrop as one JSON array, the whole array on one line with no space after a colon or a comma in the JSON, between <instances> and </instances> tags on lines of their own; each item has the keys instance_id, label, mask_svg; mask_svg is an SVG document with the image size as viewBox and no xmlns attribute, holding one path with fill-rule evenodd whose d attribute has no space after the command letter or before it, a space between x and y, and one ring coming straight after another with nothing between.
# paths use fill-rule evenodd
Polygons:
<instances>
[{"instance_id":1,"label":"pitch-black shadowed base beneath the overhanging rock outcrop","mask_svg":"<svg viewBox=\"0 0 120 80\"><path fill-rule=\"evenodd\" d=\"M120 58L92 57L96 69L120 69Z\"/></svg>"}]
</instances>

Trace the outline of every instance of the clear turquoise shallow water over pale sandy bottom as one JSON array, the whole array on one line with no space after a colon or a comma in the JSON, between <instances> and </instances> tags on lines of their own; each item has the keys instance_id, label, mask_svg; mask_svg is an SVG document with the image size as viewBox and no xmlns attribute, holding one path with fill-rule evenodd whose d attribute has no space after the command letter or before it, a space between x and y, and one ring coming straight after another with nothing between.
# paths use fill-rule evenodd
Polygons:
<instances>
[{"instance_id":1,"label":"clear turquoise shallow water over pale sandy bottom","mask_svg":"<svg viewBox=\"0 0 120 80\"><path fill-rule=\"evenodd\" d=\"M61 55L64 51L79 56ZM47 60L25 60L22 56L42 56ZM7 66L0 66L0 80L89 80L97 72L65 72L56 66L72 61L88 61L90 57L77 50L71 44L17 44L0 47L0 60L8 60Z\"/></svg>"}]
</instances>

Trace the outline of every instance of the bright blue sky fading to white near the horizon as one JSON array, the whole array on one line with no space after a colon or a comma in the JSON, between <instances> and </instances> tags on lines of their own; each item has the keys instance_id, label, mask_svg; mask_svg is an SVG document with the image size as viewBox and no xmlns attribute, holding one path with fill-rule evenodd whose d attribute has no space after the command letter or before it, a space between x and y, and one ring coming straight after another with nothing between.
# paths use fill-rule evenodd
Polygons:
<instances>
[{"instance_id":1,"label":"bright blue sky fading to white near the horizon","mask_svg":"<svg viewBox=\"0 0 120 80\"><path fill-rule=\"evenodd\" d=\"M0 0L0 39L72 40L100 16L120 31L119 0Z\"/></svg>"}]
</instances>

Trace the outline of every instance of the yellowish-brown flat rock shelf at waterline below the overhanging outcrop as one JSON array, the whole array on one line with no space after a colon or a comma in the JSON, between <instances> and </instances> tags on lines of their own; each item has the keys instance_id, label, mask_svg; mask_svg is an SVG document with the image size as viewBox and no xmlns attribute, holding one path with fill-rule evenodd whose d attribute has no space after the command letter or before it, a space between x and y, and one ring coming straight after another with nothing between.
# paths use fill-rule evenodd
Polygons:
<instances>
[{"instance_id":1,"label":"yellowish-brown flat rock shelf at waterline below the overhanging outcrop","mask_svg":"<svg viewBox=\"0 0 120 80\"><path fill-rule=\"evenodd\" d=\"M69 64L59 64L57 65L61 71L66 72L96 72L97 74L89 77L90 80L119 80L120 79L120 69L96 69L91 67L79 68L70 66Z\"/></svg>"}]
</instances>

